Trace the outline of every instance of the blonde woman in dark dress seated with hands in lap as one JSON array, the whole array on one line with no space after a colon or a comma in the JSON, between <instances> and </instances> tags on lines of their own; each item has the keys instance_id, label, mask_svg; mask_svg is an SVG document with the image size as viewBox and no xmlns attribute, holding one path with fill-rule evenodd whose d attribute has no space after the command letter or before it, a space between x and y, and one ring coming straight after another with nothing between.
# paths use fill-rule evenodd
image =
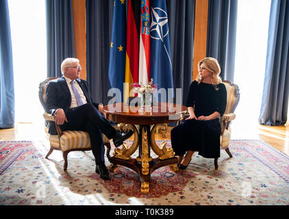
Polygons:
<instances>
[{"instance_id":1,"label":"blonde woman in dark dress seated with hands in lap","mask_svg":"<svg viewBox=\"0 0 289 219\"><path fill-rule=\"evenodd\" d=\"M220 157L219 116L226 109L227 91L219 77L221 68L217 60L205 57L198 68L199 75L190 85L186 103L190 116L171 131L172 147L181 170L187 168L194 151L206 158Z\"/></svg>"}]
</instances>

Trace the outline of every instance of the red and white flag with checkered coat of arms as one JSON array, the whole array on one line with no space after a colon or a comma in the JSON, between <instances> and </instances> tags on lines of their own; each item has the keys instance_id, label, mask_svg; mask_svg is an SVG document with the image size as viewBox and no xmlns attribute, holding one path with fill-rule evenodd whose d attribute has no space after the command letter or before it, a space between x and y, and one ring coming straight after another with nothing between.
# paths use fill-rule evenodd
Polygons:
<instances>
[{"instance_id":1,"label":"red and white flag with checkered coat of arms","mask_svg":"<svg viewBox=\"0 0 289 219\"><path fill-rule=\"evenodd\" d=\"M140 9L140 66L138 81L148 84L151 73L151 35L149 34L149 0L142 0Z\"/></svg>"}]
</instances>

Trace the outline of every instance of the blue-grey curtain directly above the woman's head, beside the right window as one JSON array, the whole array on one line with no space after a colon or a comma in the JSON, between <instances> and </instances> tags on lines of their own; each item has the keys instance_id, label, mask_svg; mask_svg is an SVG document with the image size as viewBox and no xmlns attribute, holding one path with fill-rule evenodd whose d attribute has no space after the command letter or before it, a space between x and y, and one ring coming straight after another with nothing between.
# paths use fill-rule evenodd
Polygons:
<instances>
[{"instance_id":1,"label":"blue-grey curtain directly above the woman's head, beside the right window","mask_svg":"<svg viewBox=\"0 0 289 219\"><path fill-rule=\"evenodd\" d=\"M237 14L238 0L209 0L207 56L218 60L222 79L229 81L234 81Z\"/></svg>"}]
</instances>

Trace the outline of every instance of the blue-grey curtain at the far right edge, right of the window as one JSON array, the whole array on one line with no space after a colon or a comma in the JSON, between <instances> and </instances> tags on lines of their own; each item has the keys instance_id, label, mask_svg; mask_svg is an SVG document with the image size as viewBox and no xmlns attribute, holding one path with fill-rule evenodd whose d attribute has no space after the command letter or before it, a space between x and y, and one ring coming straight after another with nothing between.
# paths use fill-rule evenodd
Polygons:
<instances>
[{"instance_id":1,"label":"blue-grey curtain at the far right edge, right of the window","mask_svg":"<svg viewBox=\"0 0 289 219\"><path fill-rule=\"evenodd\" d=\"M289 1L272 0L259 123L284 125L289 92Z\"/></svg>"}]
</instances>

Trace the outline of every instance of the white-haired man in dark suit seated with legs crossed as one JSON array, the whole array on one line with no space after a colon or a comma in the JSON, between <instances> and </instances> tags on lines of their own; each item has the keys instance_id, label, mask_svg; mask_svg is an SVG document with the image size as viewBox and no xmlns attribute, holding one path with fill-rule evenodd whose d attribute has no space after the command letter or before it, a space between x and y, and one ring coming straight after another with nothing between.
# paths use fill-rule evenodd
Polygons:
<instances>
[{"instance_id":1,"label":"white-haired man in dark suit seated with legs crossed","mask_svg":"<svg viewBox=\"0 0 289 219\"><path fill-rule=\"evenodd\" d=\"M63 77L47 83L46 111L55 115L55 123L62 131L87 131L90 136L92 153L95 156L96 170L101 179L110 179L108 168L104 164L104 146L102 133L113 139L115 146L123 144L133 131L116 131L105 118L103 105L94 103L90 97L88 83L79 79L81 66L76 58L67 58L62 62ZM55 134L55 126L50 125L49 133Z\"/></svg>"}]
</instances>

